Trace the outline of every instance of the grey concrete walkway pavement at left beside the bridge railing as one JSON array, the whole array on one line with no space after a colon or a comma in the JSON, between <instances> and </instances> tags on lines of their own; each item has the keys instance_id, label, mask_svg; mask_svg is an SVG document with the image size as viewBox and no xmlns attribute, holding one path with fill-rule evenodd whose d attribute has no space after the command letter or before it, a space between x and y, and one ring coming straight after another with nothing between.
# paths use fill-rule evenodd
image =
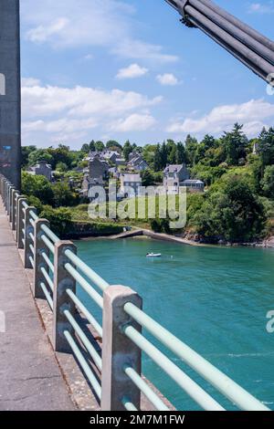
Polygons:
<instances>
[{"instance_id":1,"label":"grey concrete walkway pavement at left beside the bridge railing","mask_svg":"<svg viewBox=\"0 0 274 429\"><path fill-rule=\"evenodd\" d=\"M0 411L75 410L38 317L2 201L0 318Z\"/></svg>"}]
</instances>

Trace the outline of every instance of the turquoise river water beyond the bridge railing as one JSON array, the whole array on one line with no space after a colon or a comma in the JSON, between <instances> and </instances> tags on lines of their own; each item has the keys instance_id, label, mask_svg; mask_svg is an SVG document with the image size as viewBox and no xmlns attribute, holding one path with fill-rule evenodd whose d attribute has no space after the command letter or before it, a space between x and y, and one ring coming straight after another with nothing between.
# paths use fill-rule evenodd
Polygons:
<instances>
[{"instance_id":1,"label":"turquoise river water beyond the bridge railing","mask_svg":"<svg viewBox=\"0 0 274 429\"><path fill-rule=\"evenodd\" d=\"M136 290L149 315L274 409L274 334L266 330L267 312L274 309L272 250L149 239L81 241L78 247L79 256L100 276ZM161 252L162 259L147 259L150 251ZM143 372L178 409L199 409L145 355ZM195 380L221 399L199 377Z\"/></svg>"}]
</instances>

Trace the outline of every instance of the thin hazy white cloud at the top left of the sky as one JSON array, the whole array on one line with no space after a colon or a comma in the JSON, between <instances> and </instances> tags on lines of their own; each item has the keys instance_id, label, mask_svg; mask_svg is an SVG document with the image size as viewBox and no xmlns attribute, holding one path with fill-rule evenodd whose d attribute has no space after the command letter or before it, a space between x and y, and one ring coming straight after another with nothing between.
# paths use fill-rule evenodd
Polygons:
<instances>
[{"instance_id":1,"label":"thin hazy white cloud at the top left of the sky","mask_svg":"<svg viewBox=\"0 0 274 429\"><path fill-rule=\"evenodd\" d=\"M164 54L161 46L135 39L134 8L119 0L25 0L21 9L23 33L34 43L108 47L122 58L178 59Z\"/></svg>"}]
</instances>

